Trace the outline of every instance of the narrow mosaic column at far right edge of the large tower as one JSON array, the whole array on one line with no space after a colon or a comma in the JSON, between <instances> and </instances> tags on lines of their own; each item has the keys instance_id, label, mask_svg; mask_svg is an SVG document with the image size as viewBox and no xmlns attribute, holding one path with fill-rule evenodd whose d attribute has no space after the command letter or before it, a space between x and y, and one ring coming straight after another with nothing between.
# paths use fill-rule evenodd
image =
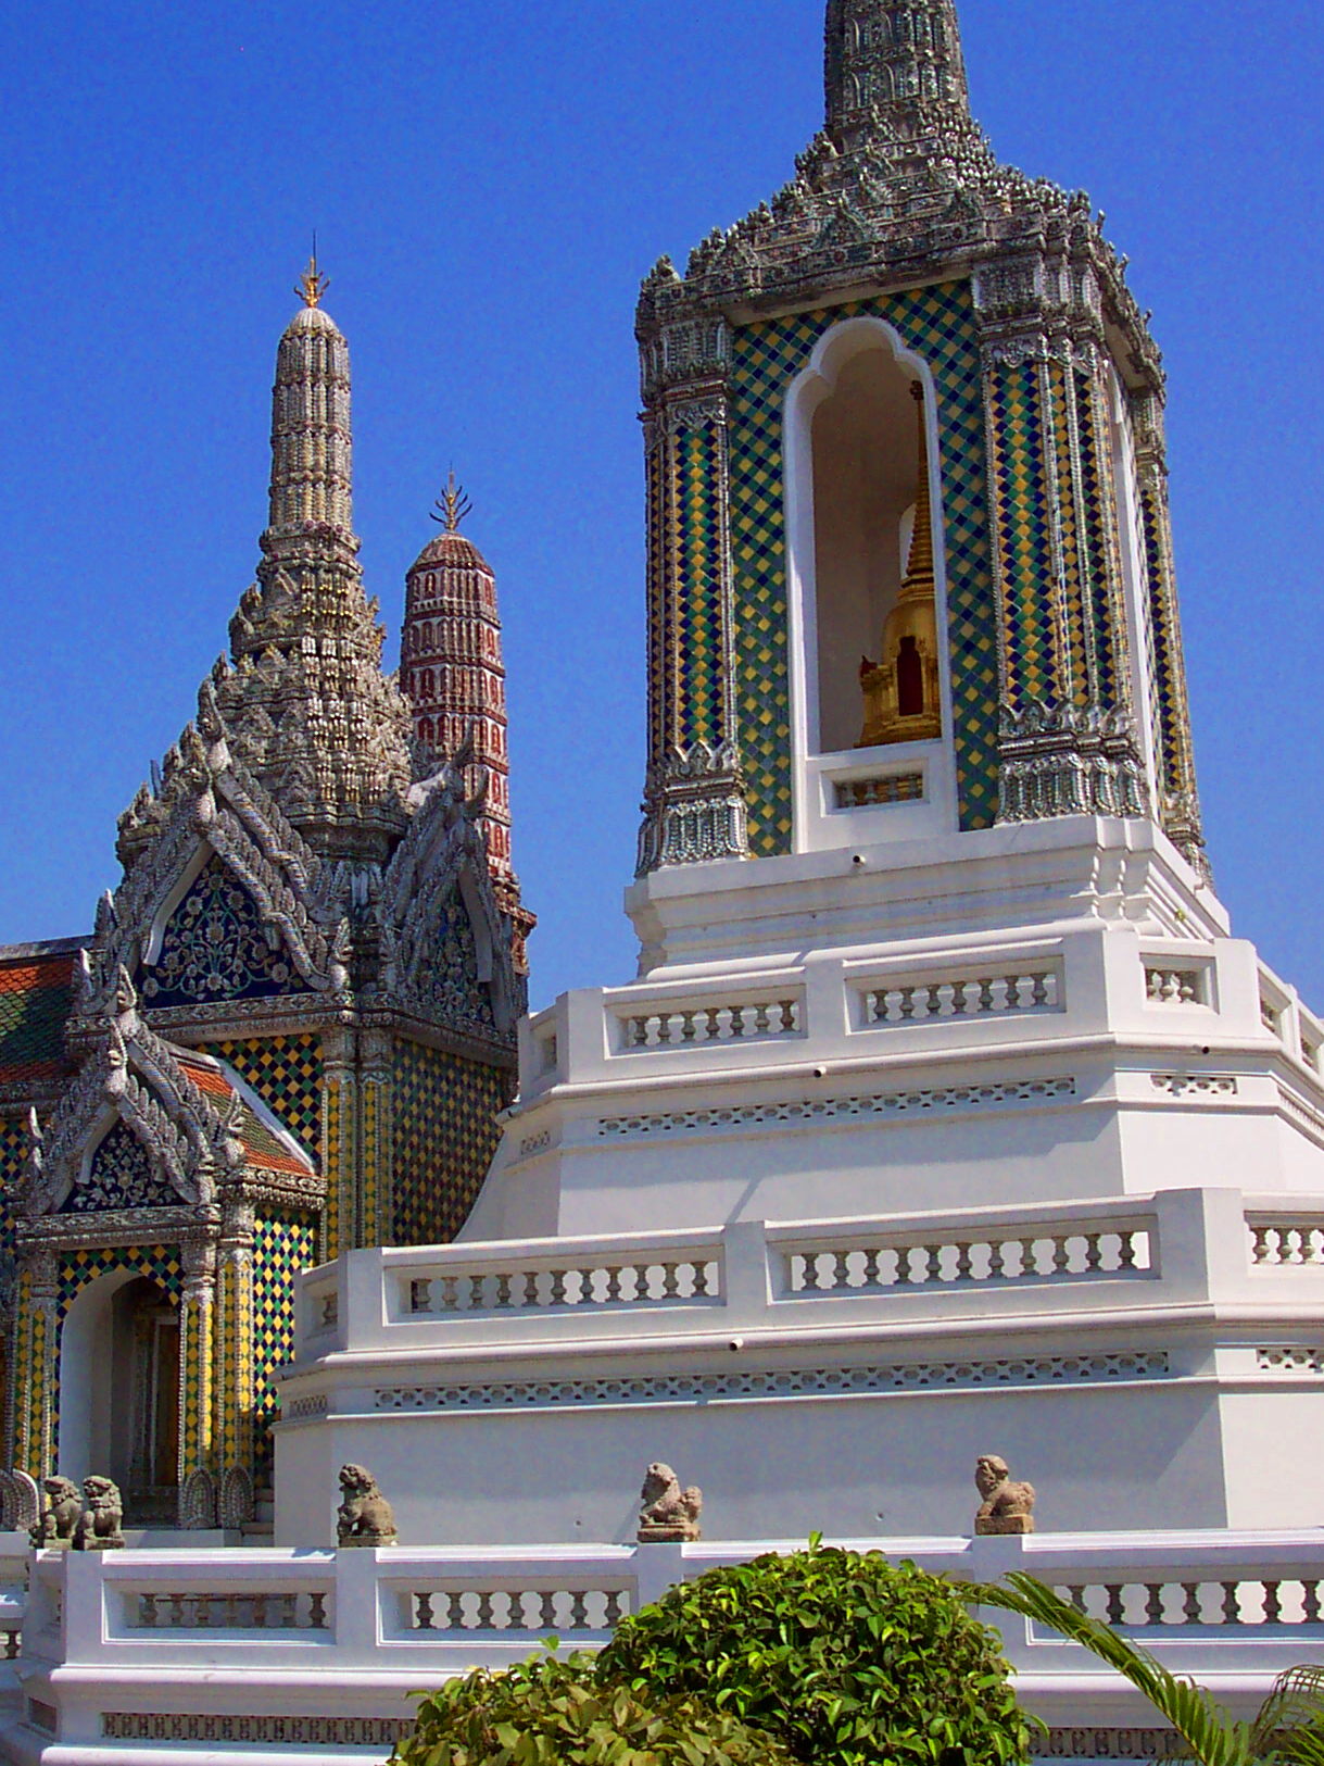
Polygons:
<instances>
[{"instance_id":1,"label":"narrow mosaic column at far right edge of the large tower","mask_svg":"<svg viewBox=\"0 0 1324 1766\"><path fill-rule=\"evenodd\" d=\"M1153 634L1156 701L1158 788L1163 832L1202 874L1209 874L1195 784L1195 751L1186 696L1186 660L1181 648L1177 577L1172 560L1172 516L1167 494L1167 434L1158 394L1132 396L1135 473L1144 537Z\"/></svg>"}]
</instances>

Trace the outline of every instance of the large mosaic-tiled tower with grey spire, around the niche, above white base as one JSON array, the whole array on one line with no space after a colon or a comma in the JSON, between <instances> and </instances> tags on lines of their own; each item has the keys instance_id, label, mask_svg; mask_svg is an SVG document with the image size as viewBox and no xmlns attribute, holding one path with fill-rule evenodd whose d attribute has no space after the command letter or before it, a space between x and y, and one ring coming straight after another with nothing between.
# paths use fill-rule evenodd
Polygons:
<instances>
[{"instance_id":1,"label":"large mosaic-tiled tower with grey spire, around the niche, above white base","mask_svg":"<svg viewBox=\"0 0 1324 1766\"><path fill-rule=\"evenodd\" d=\"M639 298L641 871L794 849L784 417L861 314L934 376L960 826L1151 816L1204 869L1165 378L1126 260L1082 191L996 157L955 0L826 0L824 48L826 125L794 177Z\"/></svg>"}]
</instances>

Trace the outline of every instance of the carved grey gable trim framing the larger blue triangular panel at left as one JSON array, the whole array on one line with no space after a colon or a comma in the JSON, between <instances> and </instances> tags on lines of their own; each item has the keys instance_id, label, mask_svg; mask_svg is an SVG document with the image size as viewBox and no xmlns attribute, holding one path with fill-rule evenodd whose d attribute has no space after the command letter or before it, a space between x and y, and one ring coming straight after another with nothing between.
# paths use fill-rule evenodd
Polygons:
<instances>
[{"instance_id":1,"label":"carved grey gable trim framing the larger blue triangular panel at left","mask_svg":"<svg viewBox=\"0 0 1324 1766\"><path fill-rule=\"evenodd\" d=\"M79 1017L106 1010L122 968L150 971L169 913L212 858L288 959L290 992L346 991L350 924L335 878L233 758L212 680L203 682L198 721L120 818L120 858L124 881L102 897L81 962Z\"/></svg>"}]
</instances>

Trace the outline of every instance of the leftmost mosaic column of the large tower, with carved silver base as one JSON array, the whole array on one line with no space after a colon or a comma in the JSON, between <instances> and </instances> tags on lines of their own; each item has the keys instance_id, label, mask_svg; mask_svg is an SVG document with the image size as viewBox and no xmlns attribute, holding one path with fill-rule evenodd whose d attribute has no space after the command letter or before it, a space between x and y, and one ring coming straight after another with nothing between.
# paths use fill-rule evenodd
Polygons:
<instances>
[{"instance_id":1,"label":"leftmost mosaic column of the large tower, with carved silver base","mask_svg":"<svg viewBox=\"0 0 1324 1766\"><path fill-rule=\"evenodd\" d=\"M749 851L736 740L727 380L720 318L643 344L648 781L639 874Z\"/></svg>"}]
</instances>

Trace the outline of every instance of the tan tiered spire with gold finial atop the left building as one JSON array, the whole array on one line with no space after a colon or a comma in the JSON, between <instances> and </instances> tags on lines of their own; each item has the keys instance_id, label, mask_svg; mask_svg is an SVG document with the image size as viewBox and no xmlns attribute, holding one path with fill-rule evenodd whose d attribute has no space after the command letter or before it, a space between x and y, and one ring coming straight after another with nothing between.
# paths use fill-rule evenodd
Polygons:
<instances>
[{"instance_id":1,"label":"tan tiered spire with gold finial atop the left building","mask_svg":"<svg viewBox=\"0 0 1324 1766\"><path fill-rule=\"evenodd\" d=\"M217 699L235 752L314 849L385 857L404 826L410 712L381 673L351 514L350 348L316 260L281 337L270 519Z\"/></svg>"}]
</instances>

